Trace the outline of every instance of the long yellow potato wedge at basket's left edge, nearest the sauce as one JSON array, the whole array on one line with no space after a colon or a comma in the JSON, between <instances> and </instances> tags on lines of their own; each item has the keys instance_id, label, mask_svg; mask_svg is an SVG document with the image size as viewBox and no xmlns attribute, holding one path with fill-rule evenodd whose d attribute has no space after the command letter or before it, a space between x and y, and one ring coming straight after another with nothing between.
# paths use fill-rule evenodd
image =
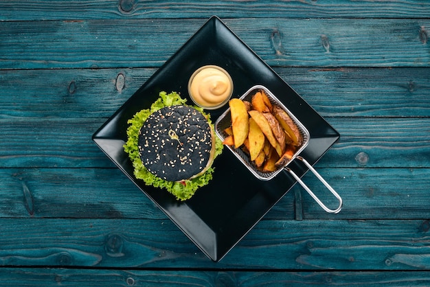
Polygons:
<instances>
[{"instance_id":1,"label":"long yellow potato wedge at basket's left edge, nearest the sauce","mask_svg":"<svg viewBox=\"0 0 430 287\"><path fill-rule=\"evenodd\" d=\"M242 100L237 98L229 100L231 113L231 128L233 129L234 147L242 146L248 137L249 122L248 111Z\"/></svg>"}]
</instances>

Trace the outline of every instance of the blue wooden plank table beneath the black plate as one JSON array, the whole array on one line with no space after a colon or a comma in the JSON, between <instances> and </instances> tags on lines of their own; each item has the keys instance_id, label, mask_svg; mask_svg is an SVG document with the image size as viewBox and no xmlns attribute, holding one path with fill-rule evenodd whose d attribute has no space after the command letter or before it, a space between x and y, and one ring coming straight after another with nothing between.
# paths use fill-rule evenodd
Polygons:
<instances>
[{"instance_id":1,"label":"blue wooden plank table beneath the black plate","mask_svg":"<svg viewBox=\"0 0 430 287\"><path fill-rule=\"evenodd\" d=\"M342 211L295 185L220 262L91 141L212 15L341 134ZM1 1L0 285L429 286L429 34L424 0Z\"/></svg>"}]
</instances>

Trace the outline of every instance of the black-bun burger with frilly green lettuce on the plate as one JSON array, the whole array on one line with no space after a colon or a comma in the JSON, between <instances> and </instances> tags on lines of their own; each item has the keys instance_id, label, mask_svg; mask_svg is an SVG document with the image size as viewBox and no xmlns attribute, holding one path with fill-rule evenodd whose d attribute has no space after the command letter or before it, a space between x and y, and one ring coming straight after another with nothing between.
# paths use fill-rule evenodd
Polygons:
<instances>
[{"instance_id":1,"label":"black-bun burger with frilly green lettuce on the plate","mask_svg":"<svg viewBox=\"0 0 430 287\"><path fill-rule=\"evenodd\" d=\"M185 102L178 93L159 93L150 108L128 120L124 144L135 177L178 200L191 198L209 183L212 163L223 150L210 115Z\"/></svg>"}]
</instances>

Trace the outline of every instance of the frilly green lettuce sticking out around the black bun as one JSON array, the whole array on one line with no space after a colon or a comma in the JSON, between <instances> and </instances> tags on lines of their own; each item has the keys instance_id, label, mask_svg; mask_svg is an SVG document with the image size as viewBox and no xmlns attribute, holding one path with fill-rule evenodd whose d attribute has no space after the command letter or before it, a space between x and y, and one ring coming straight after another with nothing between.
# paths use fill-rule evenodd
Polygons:
<instances>
[{"instance_id":1,"label":"frilly green lettuce sticking out around the black bun","mask_svg":"<svg viewBox=\"0 0 430 287\"><path fill-rule=\"evenodd\" d=\"M185 104L187 100L181 98L179 93L172 92L159 93L159 98L152 103L150 108L144 109L142 111L137 112L133 118L128 119L127 128L127 141L124 144L124 150L128 153L128 157L130 157L133 162L134 175L137 179L142 179L146 185L152 185L154 187L159 187L166 189L168 192L176 196L178 200L187 200L191 198L196 190L199 187L207 185L209 181L212 179L212 174L214 173L214 168L209 168L205 173L197 176L194 179L188 179L182 182L175 181L166 181L164 179L160 179L158 176L150 173L145 166L142 164L142 161L139 157L139 150L137 149L138 139L139 139L139 130L144 125L146 119L148 119L149 115L158 111L160 108L164 108L166 106L174 106L179 104ZM210 115L203 112L203 108L193 106L196 110L200 111L207 118L207 122L214 128L212 121L210 119ZM218 157L219 154L223 152L223 143L218 138L215 137L216 145L215 145L215 157Z\"/></svg>"}]
</instances>

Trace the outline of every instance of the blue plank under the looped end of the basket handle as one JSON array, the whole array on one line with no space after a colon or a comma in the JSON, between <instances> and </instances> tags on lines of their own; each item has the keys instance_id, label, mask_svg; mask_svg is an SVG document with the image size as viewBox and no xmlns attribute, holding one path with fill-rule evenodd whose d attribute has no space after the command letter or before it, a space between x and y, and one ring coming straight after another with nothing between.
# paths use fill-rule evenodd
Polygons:
<instances>
[{"instance_id":1,"label":"blue plank under the looped end of the basket handle","mask_svg":"<svg viewBox=\"0 0 430 287\"><path fill-rule=\"evenodd\" d=\"M317 170L341 195L343 208L339 214L328 214L299 188L304 219L420 219L429 214L427 168ZM303 180L324 203L333 209L337 207L337 200L313 174L308 172Z\"/></svg>"}]
</instances>

